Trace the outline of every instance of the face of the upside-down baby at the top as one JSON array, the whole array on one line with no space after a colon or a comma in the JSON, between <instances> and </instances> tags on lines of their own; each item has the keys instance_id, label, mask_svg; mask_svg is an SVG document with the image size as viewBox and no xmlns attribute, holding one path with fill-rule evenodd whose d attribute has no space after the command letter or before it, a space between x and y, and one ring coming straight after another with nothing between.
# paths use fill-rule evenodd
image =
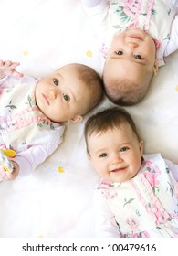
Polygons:
<instances>
[{"instance_id":1,"label":"face of the upside-down baby at the top","mask_svg":"<svg viewBox=\"0 0 178 256\"><path fill-rule=\"evenodd\" d=\"M130 78L137 83L145 71L157 69L156 49L152 37L141 29L127 29L111 43L105 71L113 78Z\"/></svg>"}]
</instances>

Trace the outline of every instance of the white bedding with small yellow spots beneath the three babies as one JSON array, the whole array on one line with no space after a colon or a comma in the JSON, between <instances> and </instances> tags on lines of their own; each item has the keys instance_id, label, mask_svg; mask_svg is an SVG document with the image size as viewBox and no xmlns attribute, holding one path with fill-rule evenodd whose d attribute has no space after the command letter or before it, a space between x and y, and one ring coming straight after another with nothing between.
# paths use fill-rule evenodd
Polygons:
<instances>
[{"instance_id":1,"label":"white bedding with small yellow spots beneath the three babies","mask_svg":"<svg viewBox=\"0 0 178 256\"><path fill-rule=\"evenodd\" d=\"M101 72L103 59L79 1L1 1L0 59L43 76L70 62ZM178 52L166 59L141 103L127 107L145 141L145 153L178 164ZM98 176L90 165L82 123L66 123L64 143L30 175L0 182L0 237L94 237L92 192Z\"/></svg>"}]
</instances>

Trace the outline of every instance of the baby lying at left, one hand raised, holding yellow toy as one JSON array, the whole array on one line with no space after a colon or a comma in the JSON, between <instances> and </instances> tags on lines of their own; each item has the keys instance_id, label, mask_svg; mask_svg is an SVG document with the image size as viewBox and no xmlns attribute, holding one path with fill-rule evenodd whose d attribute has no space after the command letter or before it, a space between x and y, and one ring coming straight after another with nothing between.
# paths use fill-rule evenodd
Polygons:
<instances>
[{"instance_id":1,"label":"baby lying at left, one hand raised, holding yellow toy","mask_svg":"<svg viewBox=\"0 0 178 256\"><path fill-rule=\"evenodd\" d=\"M64 122L79 123L102 98L95 70L68 64L42 79L16 71L0 60L0 149L14 149L14 171L0 167L0 179L26 175L61 144Z\"/></svg>"}]
</instances>

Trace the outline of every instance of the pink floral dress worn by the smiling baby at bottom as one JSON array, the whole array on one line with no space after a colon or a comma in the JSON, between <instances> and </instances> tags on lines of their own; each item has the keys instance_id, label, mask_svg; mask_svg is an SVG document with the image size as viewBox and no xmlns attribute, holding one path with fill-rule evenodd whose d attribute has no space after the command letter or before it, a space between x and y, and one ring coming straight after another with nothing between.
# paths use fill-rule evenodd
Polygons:
<instances>
[{"instance_id":1,"label":"pink floral dress worn by the smiling baby at bottom","mask_svg":"<svg viewBox=\"0 0 178 256\"><path fill-rule=\"evenodd\" d=\"M175 179L161 155L145 161L130 181L100 180L96 189L107 201L121 237L178 237Z\"/></svg>"}]
</instances>

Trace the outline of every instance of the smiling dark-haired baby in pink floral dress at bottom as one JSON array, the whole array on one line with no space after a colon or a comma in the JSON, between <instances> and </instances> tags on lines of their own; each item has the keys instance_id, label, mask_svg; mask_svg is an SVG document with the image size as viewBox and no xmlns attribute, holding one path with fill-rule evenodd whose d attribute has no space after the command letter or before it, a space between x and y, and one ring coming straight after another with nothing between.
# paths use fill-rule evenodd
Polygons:
<instances>
[{"instance_id":1,"label":"smiling dark-haired baby in pink floral dress at bottom","mask_svg":"<svg viewBox=\"0 0 178 256\"><path fill-rule=\"evenodd\" d=\"M131 115L111 108L85 125L89 160L99 175L94 192L99 237L178 237L178 165L143 155Z\"/></svg>"}]
</instances>

